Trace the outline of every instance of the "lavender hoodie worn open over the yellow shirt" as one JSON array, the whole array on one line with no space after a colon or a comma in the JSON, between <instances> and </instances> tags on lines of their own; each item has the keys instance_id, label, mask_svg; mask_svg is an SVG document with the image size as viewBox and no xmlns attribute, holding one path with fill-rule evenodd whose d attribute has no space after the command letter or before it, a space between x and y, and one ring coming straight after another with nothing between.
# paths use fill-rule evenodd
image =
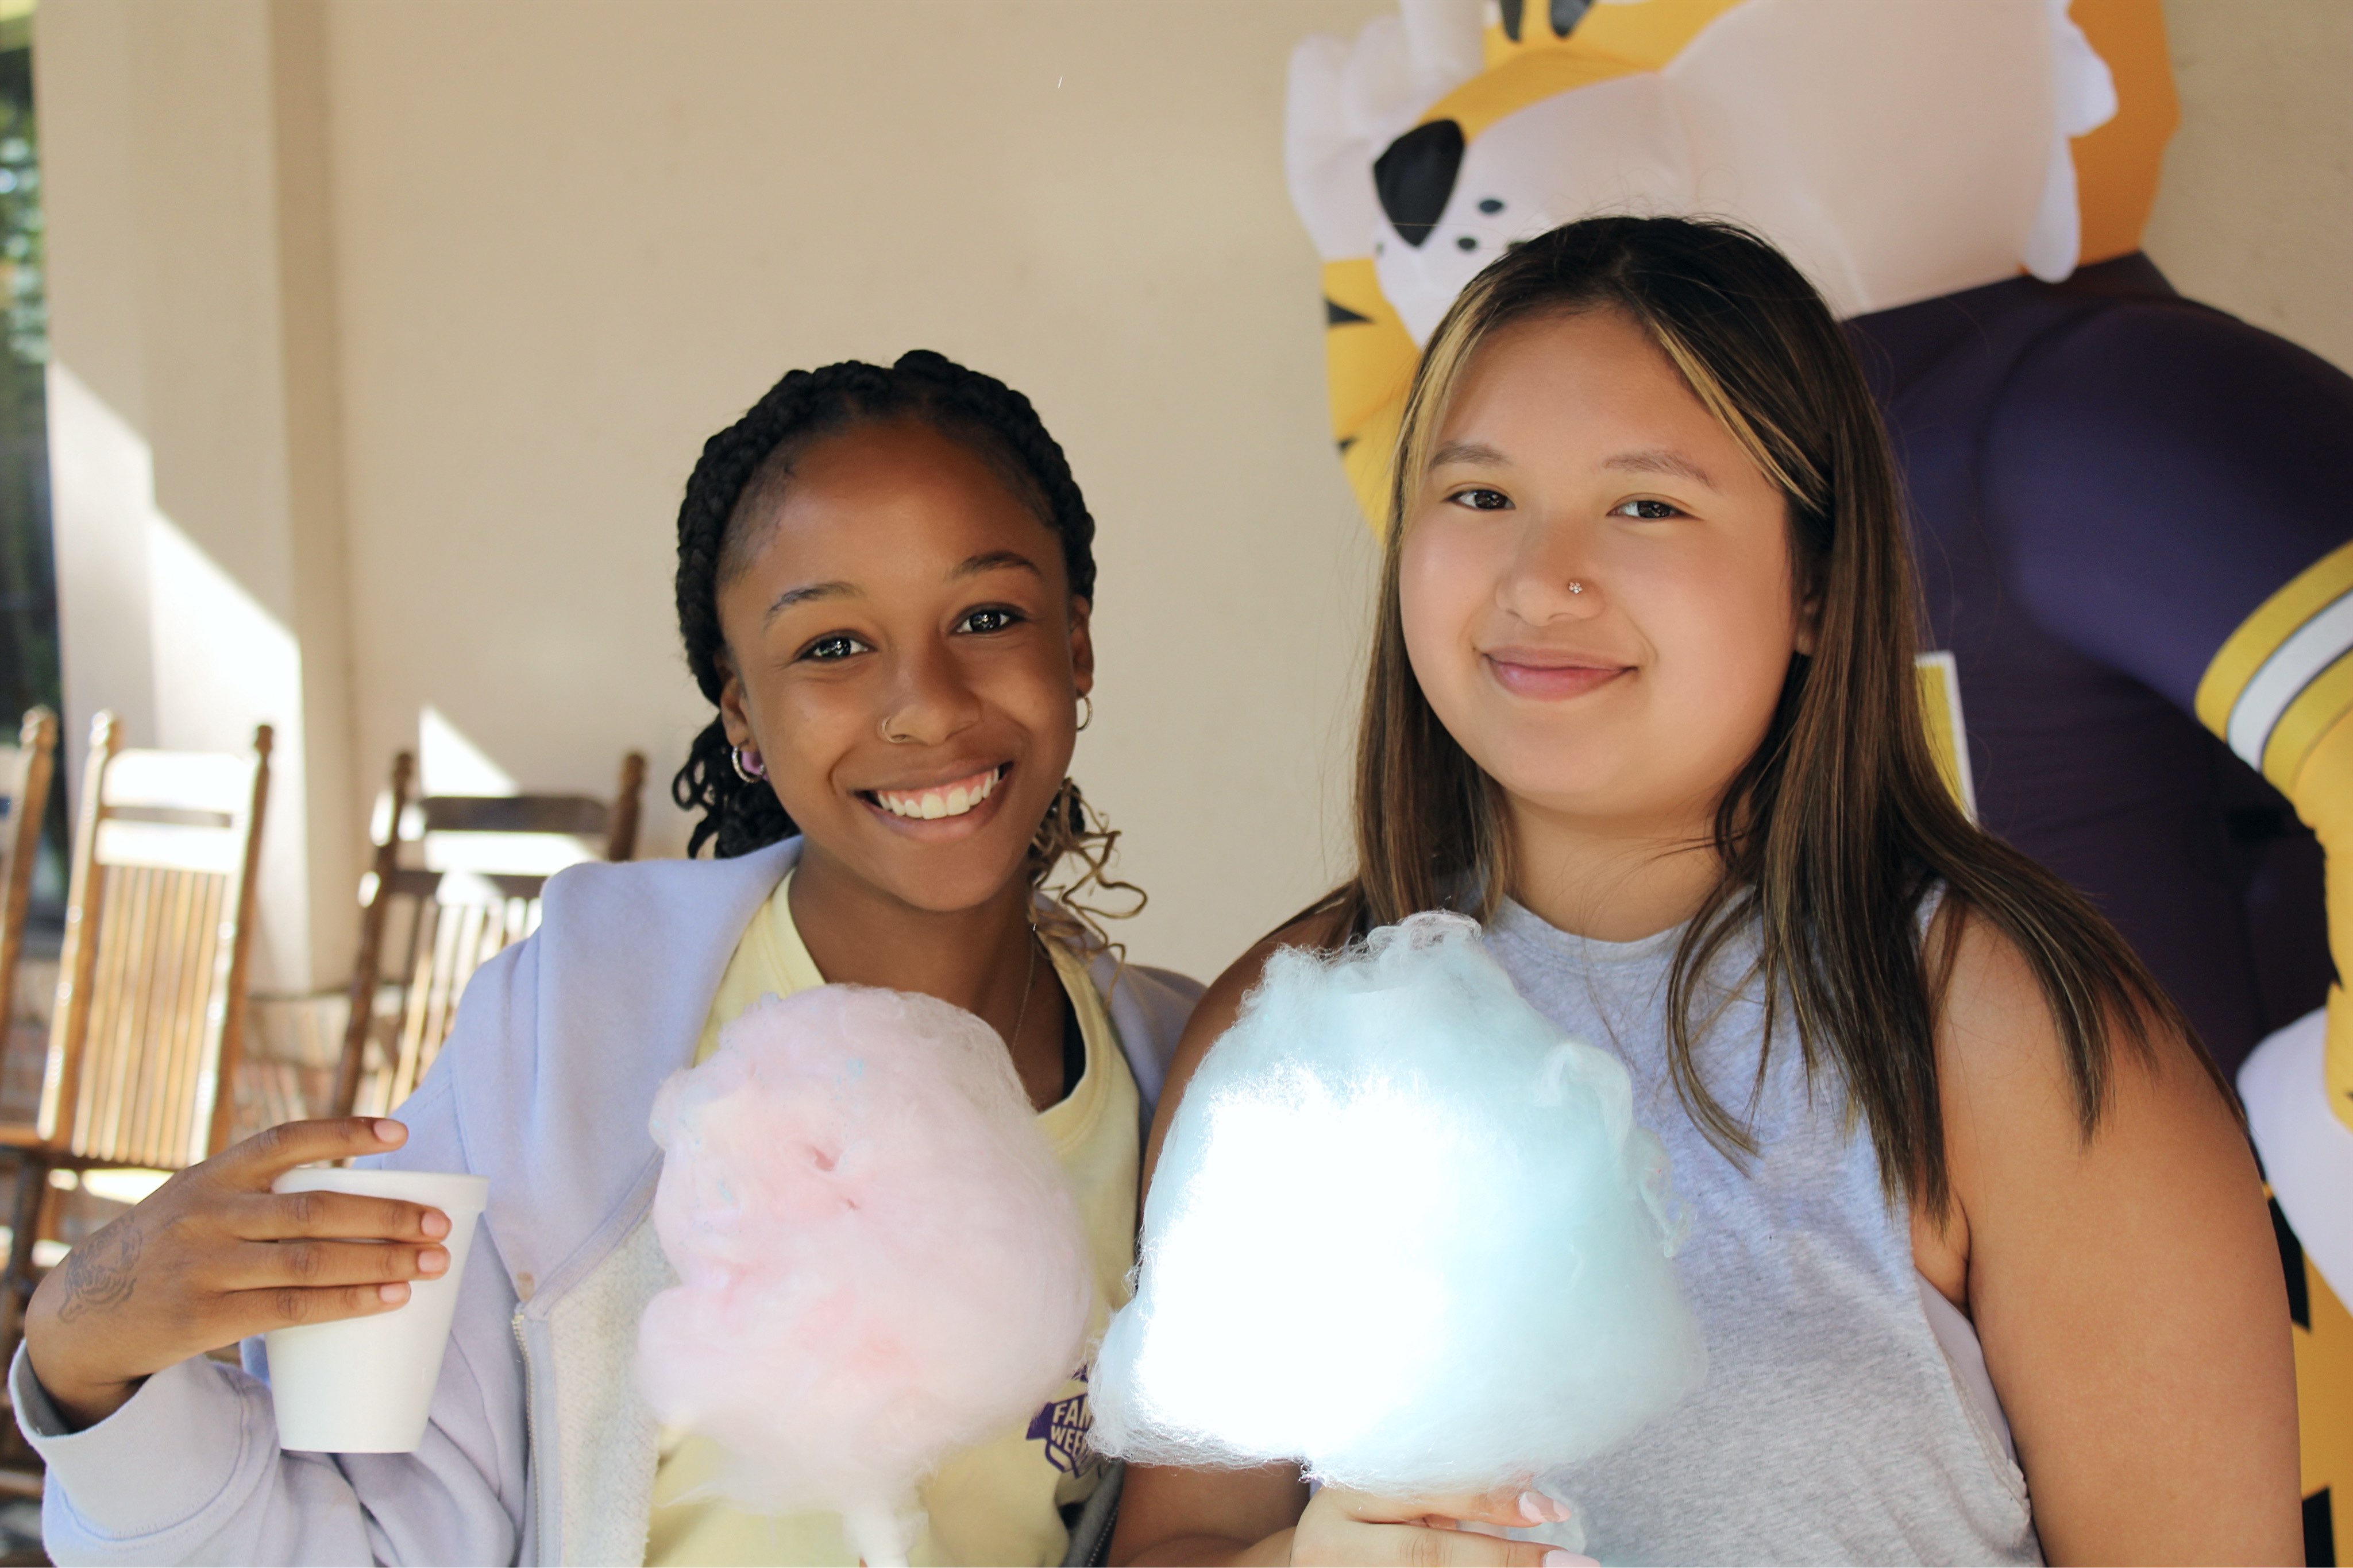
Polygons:
<instances>
[{"instance_id":1,"label":"lavender hoodie worn open over the yellow shirt","mask_svg":"<svg viewBox=\"0 0 2353 1568\"><path fill-rule=\"evenodd\" d=\"M261 1342L245 1371L155 1373L66 1432L24 1352L9 1392L49 1465L59 1563L638 1563L656 1425L631 1385L638 1314L671 1284L649 1222L654 1088L694 1056L753 912L800 853L579 865L529 940L466 987L384 1166L489 1178L487 1227L424 1446L282 1453ZM1200 987L1099 959L1144 1121ZM482 1246L487 1244L487 1246Z\"/></svg>"}]
</instances>

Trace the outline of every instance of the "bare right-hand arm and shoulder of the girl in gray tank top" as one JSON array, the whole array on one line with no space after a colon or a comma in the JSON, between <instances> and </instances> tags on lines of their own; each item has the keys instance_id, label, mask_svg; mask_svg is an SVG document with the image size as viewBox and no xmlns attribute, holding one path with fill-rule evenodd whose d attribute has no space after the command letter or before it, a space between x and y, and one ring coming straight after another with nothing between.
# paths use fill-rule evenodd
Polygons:
<instances>
[{"instance_id":1,"label":"bare right-hand arm and shoulder of the girl in gray tank top","mask_svg":"<svg viewBox=\"0 0 2353 1568\"><path fill-rule=\"evenodd\" d=\"M2033 964L1965 924L1927 952L1951 959L1937 1079L1960 1222L1925 1237L1915 1213L1915 1260L1977 1326L2042 1549L2294 1561L2287 1300L2233 1103L2179 1030L2106 1020L2087 1131Z\"/></svg>"}]
</instances>

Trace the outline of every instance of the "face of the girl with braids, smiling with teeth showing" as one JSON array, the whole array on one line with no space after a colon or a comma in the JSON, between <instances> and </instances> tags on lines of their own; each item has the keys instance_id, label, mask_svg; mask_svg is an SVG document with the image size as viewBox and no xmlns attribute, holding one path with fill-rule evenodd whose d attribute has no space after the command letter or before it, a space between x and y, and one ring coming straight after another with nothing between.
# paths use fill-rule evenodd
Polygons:
<instances>
[{"instance_id":1,"label":"face of the girl with braids, smiling with teeth showing","mask_svg":"<svg viewBox=\"0 0 2353 1568\"><path fill-rule=\"evenodd\" d=\"M1026 898L1094 684L1061 543L922 421L828 433L767 494L720 581L720 712L800 825L802 875L941 914Z\"/></svg>"}]
</instances>

